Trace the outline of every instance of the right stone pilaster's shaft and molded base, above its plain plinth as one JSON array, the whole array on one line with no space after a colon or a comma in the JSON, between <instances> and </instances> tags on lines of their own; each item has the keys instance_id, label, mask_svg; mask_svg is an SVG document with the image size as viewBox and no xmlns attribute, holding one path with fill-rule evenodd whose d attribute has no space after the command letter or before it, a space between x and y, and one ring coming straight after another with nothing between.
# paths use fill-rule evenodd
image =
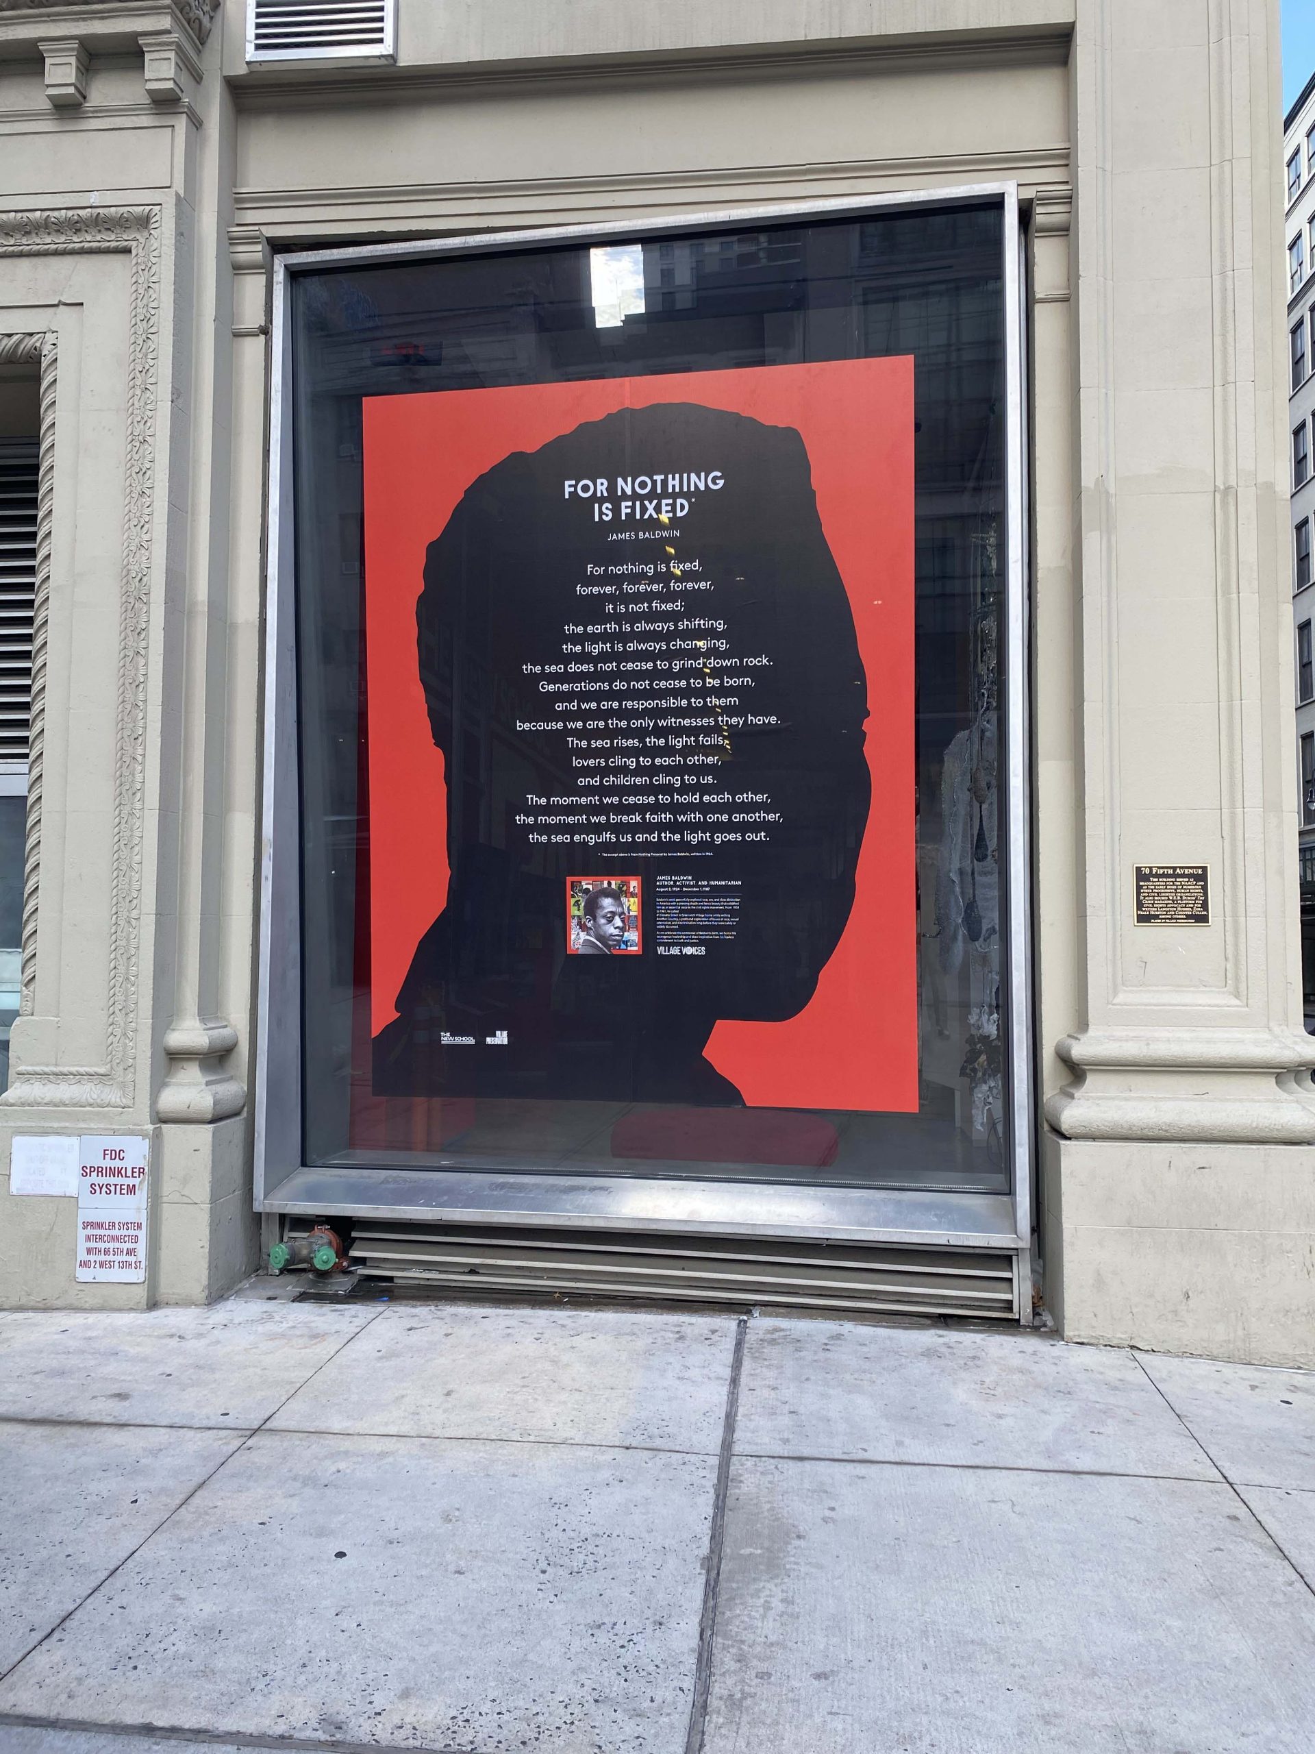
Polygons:
<instances>
[{"instance_id":1,"label":"right stone pilaster's shaft and molded base, above its plain plinth","mask_svg":"<svg viewBox=\"0 0 1315 1754\"><path fill-rule=\"evenodd\" d=\"M1315 1140L1280 638L1273 11L1078 5L1085 1016L1047 1102L1068 1138ZM1134 924L1134 865L1206 865L1210 924Z\"/></svg>"}]
</instances>

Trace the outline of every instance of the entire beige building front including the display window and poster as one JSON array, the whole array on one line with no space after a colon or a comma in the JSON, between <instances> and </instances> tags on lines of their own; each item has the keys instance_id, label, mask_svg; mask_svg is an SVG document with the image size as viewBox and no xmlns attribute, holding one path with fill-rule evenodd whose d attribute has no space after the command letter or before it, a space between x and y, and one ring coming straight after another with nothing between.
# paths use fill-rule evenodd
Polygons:
<instances>
[{"instance_id":1,"label":"entire beige building front including the display window and poster","mask_svg":"<svg viewBox=\"0 0 1315 1754\"><path fill-rule=\"evenodd\" d=\"M1276 0L0 0L0 1301L1315 1361L1280 121Z\"/></svg>"}]
</instances>

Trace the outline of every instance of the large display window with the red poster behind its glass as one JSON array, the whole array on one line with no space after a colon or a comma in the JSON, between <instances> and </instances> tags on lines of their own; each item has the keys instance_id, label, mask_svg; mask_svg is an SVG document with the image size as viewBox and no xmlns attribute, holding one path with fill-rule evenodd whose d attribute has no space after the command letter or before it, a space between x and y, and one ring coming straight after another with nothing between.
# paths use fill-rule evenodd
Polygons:
<instances>
[{"instance_id":1,"label":"large display window with the red poster behind its glass","mask_svg":"<svg viewBox=\"0 0 1315 1754\"><path fill-rule=\"evenodd\" d=\"M267 1191L1015 1189L1010 193L279 288Z\"/></svg>"}]
</instances>

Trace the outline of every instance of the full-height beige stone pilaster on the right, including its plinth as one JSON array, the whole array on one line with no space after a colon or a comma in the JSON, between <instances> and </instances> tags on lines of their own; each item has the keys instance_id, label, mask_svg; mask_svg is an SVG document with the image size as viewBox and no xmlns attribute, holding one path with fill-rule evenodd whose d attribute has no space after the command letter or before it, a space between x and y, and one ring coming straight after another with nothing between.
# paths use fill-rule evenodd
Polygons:
<instances>
[{"instance_id":1,"label":"full-height beige stone pilaster on the right, including its plinth","mask_svg":"<svg viewBox=\"0 0 1315 1754\"><path fill-rule=\"evenodd\" d=\"M1276 0L1078 0L1071 93L1080 926L1047 1294L1075 1338L1310 1361ZM1210 924L1138 926L1134 865L1206 865Z\"/></svg>"}]
</instances>

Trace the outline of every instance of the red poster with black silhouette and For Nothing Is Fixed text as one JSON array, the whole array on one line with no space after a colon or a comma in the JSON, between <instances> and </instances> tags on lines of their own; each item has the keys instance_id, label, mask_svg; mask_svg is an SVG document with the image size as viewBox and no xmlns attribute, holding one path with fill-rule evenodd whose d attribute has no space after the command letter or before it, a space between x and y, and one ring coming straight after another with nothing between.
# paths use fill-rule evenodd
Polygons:
<instances>
[{"instance_id":1,"label":"red poster with black silhouette and For Nothing Is Fixed text","mask_svg":"<svg viewBox=\"0 0 1315 1754\"><path fill-rule=\"evenodd\" d=\"M380 1096L917 1110L913 361L365 402Z\"/></svg>"}]
</instances>

